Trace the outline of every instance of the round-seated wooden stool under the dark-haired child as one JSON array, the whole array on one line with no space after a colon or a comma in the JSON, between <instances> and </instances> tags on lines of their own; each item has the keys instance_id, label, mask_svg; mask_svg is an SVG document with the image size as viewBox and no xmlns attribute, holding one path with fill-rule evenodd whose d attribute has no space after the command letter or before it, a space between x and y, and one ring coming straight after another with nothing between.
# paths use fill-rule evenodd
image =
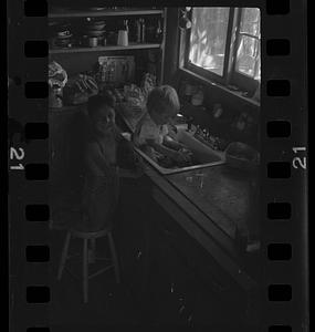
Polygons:
<instances>
[{"instance_id":1,"label":"round-seated wooden stool under the dark-haired child","mask_svg":"<svg viewBox=\"0 0 315 332\"><path fill-rule=\"evenodd\" d=\"M93 277L96 277L96 276L107 271L108 269L114 268L115 276L116 276L116 282L117 283L120 282L119 267L118 267L118 259L117 259L117 253L116 253L116 249L115 249L115 243L114 243L112 232L108 229L104 229L104 230L99 230L99 231L95 231L95 232L77 231L74 229L69 230L66 234L64 247L62 250L62 256L61 256L59 272L57 272L57 280L61 280L62 272L65 268L66 260L71 258L67 255L67 251L69 251L69 247L70 247L70 240L72 237L83 239L83 299L84 299L84 303L87 303L87 301L88 301L88 279L92 279ZM108 239L112 259L94 257L96 239L102 238L102 237L107 237L107 239ZM88 250L88 240L91 241L92 250ZM88 276L88 263L92 263L95 260L112 260L112 264Z\"/></svg>"}]
</instances>

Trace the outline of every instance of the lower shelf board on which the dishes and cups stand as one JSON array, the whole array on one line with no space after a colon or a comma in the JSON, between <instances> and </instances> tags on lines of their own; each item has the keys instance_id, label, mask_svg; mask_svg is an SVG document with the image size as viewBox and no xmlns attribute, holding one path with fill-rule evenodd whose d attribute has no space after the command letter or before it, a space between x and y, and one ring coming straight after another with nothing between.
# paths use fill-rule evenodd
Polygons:
<instances>
[{"instance_id":1,"label":"lower shelf board on which the dishes and cups stand","mask_svg":"<svg viewBox=\"0 0 315 332\"><path fill-rule=\"evenodd\" d=\"M108 45L96 48L70 48L70 49L51 49L50 54L57 53L81 53L81 52L101 52L101 51L122 51L122 50L144 50L144 49L159 49L160 44L129 44L128 46Z\"/></svg>"}]
</instances>

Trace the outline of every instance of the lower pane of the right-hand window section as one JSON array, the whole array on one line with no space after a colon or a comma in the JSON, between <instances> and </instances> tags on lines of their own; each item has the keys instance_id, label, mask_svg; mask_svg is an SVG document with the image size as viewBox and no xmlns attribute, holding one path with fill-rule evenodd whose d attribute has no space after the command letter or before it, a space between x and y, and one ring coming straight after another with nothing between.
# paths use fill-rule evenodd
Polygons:
<instances>
[{"instance_id":1,"label":"lower pane of the right-hand window section","mask_svg":"<svg viewBox=\"0 0 315 332\"><path fill-rule=\"evenodd\" d=\"M240 35L237 55L237 71L260 80L260 40Z\"/></svg>"}]
</instances>

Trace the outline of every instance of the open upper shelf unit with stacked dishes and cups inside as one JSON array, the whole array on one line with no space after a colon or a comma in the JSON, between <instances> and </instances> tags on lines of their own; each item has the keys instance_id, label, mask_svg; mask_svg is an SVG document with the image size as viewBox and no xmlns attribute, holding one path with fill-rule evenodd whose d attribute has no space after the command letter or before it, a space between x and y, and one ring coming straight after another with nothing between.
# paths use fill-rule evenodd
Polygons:
<instances>
[{"instance_id":1,"label":"open upper shelf unit with stacked dishes and cups inside","mask_svg":"<svg viewBox=\"0 0 315 332\"><path fill-rule=\"evenodd\" d=\"M166 9L52 8L49 12L50 54L161 49ZM119 41L119 30L127 41Z\"/></svg>"}]
</instances>

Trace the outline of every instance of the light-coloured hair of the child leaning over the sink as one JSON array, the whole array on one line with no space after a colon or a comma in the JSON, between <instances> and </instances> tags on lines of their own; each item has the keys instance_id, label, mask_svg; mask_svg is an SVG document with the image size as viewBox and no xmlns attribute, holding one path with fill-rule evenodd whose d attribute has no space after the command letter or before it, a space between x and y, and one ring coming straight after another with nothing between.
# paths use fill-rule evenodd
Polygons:
<instances>
[{"instance_id":1,"label":"light-coloured hair of the child leaning over the sink","mask_svg":"<svg viewBox=\"0 0 315 332\"><path fill-rule=\"evenodd\" d=\"M147 108L150 113L153 110L160 113L177 112L180 108L177 92L170 85L155 87L148 95Z\"/></svg>"}]
</instances>

